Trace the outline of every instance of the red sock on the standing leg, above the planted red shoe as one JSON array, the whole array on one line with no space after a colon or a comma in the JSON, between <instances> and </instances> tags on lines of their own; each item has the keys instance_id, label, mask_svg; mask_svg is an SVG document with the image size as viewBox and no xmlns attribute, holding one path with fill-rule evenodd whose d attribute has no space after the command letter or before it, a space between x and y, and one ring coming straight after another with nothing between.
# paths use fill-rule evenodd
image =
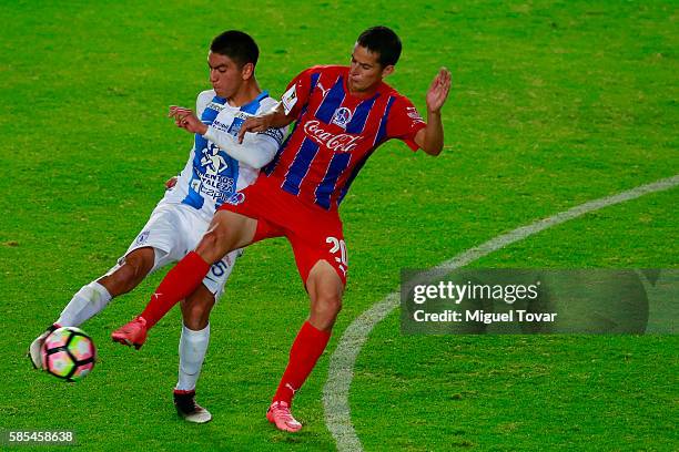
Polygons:
<instances>
[{"instance_id":1,"label":"red sock on the standing leg, above the planted red shoe","mask_svg":"<svg viewBox=\"0 0 679 452\"><path fill-rule=\"evenodd\" d=\"M302 388L306 377L314 370L316 361L323 355L330 337L330 331L321 331L308 321L304 322L290 349L290 361L273 398L274 402L287 402L288 405L292 403L295 392Z\"/></svg>"}]
</instances>

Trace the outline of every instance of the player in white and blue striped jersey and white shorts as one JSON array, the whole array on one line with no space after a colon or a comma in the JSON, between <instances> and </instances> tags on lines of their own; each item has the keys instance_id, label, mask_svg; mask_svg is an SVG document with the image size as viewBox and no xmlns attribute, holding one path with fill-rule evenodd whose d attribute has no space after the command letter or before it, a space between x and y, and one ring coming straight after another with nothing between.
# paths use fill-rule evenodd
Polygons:
<instances>
[{"instance_id":1,"label":"player in white and blue striped jersey and white shorts","mask_svg":"<svg viewBox=\"0 0 679 452\"><path fill-rule=\"evenodd\" d=\"M213 89L199 94L197 115L189 109L170 109L176 125L194 134L184 170L118 264L83 286L59 319L31 343L29 357L34 367L41 368L40 347L49 332L58 327L80 326L149 274L183 258L207 230L215 209L237 189L252 184L260 168L271 162L283 142L285 127L247 134L247 140L237 142L247 117L268 112L278 103L257 84L257 45L244 32L230 30L212 41L207 64ZM210 308L222 295L239 254L232 250L211 263L196 290L182 300L184 325L174 400L180 415L191 422L212 418L195 403L195 386L210 339Z\"/></svg>"}]
</instances>

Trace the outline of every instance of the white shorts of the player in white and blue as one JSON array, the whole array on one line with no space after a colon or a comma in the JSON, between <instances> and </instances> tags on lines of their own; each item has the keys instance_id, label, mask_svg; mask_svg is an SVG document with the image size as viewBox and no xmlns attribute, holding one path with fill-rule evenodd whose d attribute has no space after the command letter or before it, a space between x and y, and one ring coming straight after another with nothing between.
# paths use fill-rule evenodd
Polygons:
<instances>
[{"instance_id":1,"label":"white shorts of the player in white and blue","mask_svg":"<svg viewBox=\"0 0 679 452\"><path fill-rule=\"evenodd\" d=\"M146 225L130 245L124 256L119 259L122 264L125 256L135 249L152 247L155 250L155 263L150 274L169 264L181 260L197 246L207 230L210 222L205 220L196 209L184 204L170 204L161 202L153 212ZM222 260L214 264L203 285L214 295L215 301L224 291L226 279L242 250L229 253ZM113 271L115 266L111 271ZM111 273L109 271L109 273Z\"/></svg>"}]
</instances>

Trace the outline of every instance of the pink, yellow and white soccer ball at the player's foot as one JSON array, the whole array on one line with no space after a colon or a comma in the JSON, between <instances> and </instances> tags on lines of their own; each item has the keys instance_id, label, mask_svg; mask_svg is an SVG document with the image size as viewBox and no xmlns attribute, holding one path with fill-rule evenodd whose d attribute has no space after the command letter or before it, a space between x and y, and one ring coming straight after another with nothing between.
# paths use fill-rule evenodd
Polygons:
<instances>
[{"instance_id":1,"label":"pink, yellow and white soccer ball at the player's foot","mask_svg":"<svg viewBox=\"0 0 679 452\"><path fill-rule=\"evenodd\" d=\"M92 339L74 327L59 328L42 345L42 368L57 378L79 381L94 367L97 349Z\"/></svg>"}]
</instances>

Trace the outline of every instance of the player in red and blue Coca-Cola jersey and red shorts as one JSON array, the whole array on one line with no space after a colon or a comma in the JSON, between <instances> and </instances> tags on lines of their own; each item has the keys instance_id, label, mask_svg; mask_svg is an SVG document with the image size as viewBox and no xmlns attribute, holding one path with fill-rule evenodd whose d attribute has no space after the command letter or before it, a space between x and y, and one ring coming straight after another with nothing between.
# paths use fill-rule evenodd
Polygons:
<instances>
[{"instance_id":1,"label":"player in red and blue Coca-Cola jersey and red shorts","mask_svg":"<svg viewBox=\"0 0 679 452\"><path fill-rule=\"evenodd\" d=\"M195 290L212 263L230 250L285 236L311 309L266 417L280 430L302 428L290 411L292 399L327 345L346 285L348 261L337 213L342 199L367 158L391 138L429 155L443 150L440 109L450 89L450 73L442 69L434 78L426 94L425 122L407 97L383 81L394 72L401 48L394 31L371 28L358 37L348 68L303 71L276 110L243 123L240 140L246 133L296 122L257 181L220 207L195 251L168 274L146 309L116 330L114 340L142 345L148 329ZM204 315L200 309L194 314Z\"/></svg>"}]
</instances>

